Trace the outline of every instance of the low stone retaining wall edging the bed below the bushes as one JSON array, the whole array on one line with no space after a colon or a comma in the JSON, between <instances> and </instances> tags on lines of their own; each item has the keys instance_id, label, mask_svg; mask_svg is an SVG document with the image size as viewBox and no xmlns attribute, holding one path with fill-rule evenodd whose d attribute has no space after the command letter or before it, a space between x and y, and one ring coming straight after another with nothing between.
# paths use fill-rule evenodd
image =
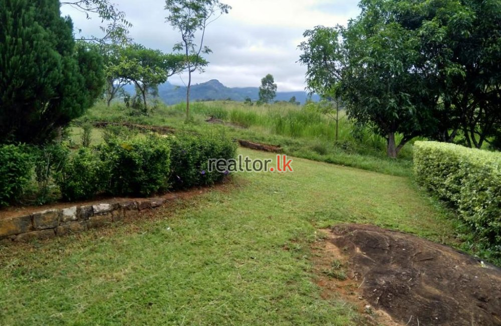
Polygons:
<instances>
[{"instance_id":1,"label":"low stone retaining wall edging the bed below the bushes","mask_svg":"<svg viewBox=\"0 0 501 326\"><path fill-rule=\"evenodd\" d=\"M119 203L51 209L29 215L0 219L0 241L29 241L78 233L99 228L140 211L161 206L166 199L154 198Z\"/></svg>"}]
</instances>

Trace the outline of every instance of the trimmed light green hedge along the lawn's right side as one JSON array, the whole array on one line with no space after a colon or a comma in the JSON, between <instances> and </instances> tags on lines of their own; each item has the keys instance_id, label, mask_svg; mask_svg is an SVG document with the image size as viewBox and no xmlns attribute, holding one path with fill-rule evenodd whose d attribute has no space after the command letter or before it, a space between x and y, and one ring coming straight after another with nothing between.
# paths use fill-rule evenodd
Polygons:
<instances>
[{"instance_id":1,"label":"trimmed light green hedge along the lawn's right side","mask_svg":"<svg viewBox=\"0 0 501 326\"><path fill-rule=\"evenodd\" d=\"M501 252L501 153L417 141L414 172L419 184L450 203Z\"/></svg>"}]
</instances>

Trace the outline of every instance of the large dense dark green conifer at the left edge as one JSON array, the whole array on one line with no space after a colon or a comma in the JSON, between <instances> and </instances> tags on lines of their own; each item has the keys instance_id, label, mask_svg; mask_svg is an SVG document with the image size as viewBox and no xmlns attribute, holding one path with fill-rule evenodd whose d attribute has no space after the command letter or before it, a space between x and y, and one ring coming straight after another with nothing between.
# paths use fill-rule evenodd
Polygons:
<instances>
[{"instance_id":1,"label":"large dense dark green conifer at the left edge","mask_svg":"<svg viewBox=\"0 0 501 326\"><path fill-rule=\"evenodd\" d=\"M101 95L102 58L58 0L0 3L0 142L44 143Z\"/></svg>"}]
</instances>

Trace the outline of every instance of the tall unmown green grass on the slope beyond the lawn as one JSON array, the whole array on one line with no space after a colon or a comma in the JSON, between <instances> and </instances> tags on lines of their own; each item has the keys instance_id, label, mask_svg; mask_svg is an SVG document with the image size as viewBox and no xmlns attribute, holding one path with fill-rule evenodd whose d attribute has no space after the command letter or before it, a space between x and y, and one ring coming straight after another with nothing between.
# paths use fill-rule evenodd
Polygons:
<instances>
[{"instance_id":1,"label":"tall unmown green grass on the slope beyond the lawn","mask_svg":"<svg viewBox=\"0 0 501 326\"><path fill-rule=\"evenodd\" d=\"M346 117L340 120L339 139L335 141L335 123L327 115L308 107L289 103L248 106L240 102L214 101L191 104L191 117L185 121L183 103L158 104L148 116L130 116L123 106L98 104L81 120L131 121L169 126L179 130L225 132L235 139L282 146L285 153L333 164L356 167L394 176L410 176L412 143L406 145L398 159L386 157L385 139L367 128L356 129ZM345 115L341 112L341 117ZM209 117L227 125L205 122ZM232 125L231 125L232 124ZM398 139L397 139L398 141Z\"/></svg>"}]
</instances>

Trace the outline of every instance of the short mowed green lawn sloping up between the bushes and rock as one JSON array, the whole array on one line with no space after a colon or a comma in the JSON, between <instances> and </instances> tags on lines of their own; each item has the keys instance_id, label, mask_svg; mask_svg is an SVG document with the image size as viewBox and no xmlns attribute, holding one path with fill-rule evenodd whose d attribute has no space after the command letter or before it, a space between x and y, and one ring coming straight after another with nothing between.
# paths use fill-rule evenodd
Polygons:
<instances>
[{"instance_id":1,"label":"short mowed green lawn sloping up between the bushes and rock","mask_svg":"<svg viewBox=\"0 0 501 326\"><path fill-rule=\"evenodd\" d=\"M318 228L372 223L454 241L452 222L407 178L292 166L237 174L129 223L0 245L0 324L359 325L349 303L323 299L314 282Z\"/></svg>"}]
</instances>

